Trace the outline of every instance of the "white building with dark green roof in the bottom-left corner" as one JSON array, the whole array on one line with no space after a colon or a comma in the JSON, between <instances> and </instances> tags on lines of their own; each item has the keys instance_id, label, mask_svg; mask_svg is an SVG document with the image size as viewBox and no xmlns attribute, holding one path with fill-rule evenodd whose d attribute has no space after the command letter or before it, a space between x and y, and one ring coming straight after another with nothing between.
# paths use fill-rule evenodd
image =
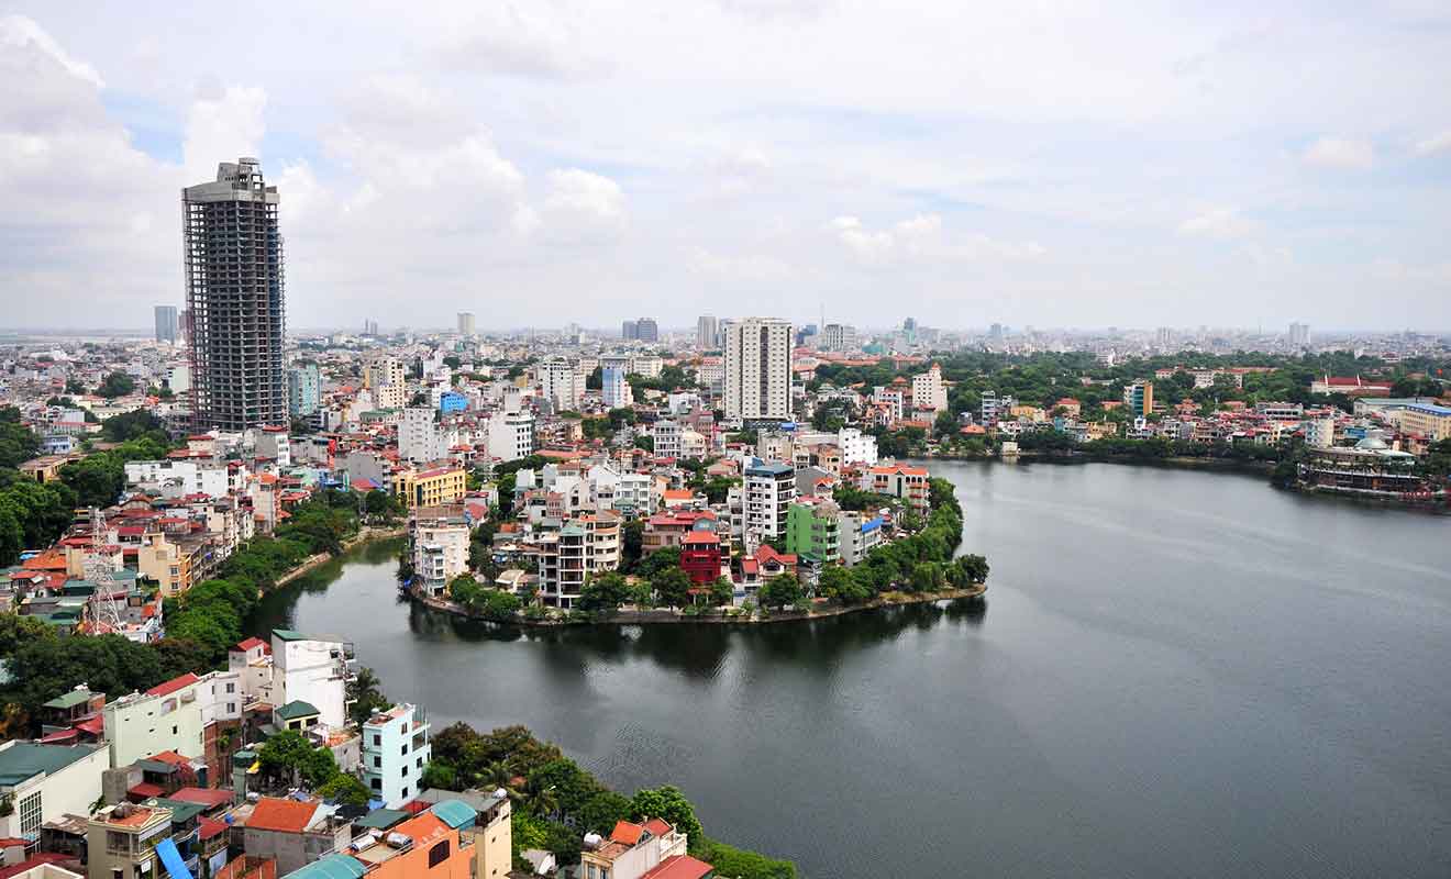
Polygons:
<instances>
[{"instance_id":1,"label":"white building with dark green roof in the bottom-left corner","mask_svg":"<svg viewBox=\"0 0 1451 879\"><path fill-rule=\"evenodd\" d=\"M107 769L104 744L0 744L0 801L10 804L10 814L0 815L0 838L38 835L46 821L89 814Z\"/></svg>"}]
</instances>

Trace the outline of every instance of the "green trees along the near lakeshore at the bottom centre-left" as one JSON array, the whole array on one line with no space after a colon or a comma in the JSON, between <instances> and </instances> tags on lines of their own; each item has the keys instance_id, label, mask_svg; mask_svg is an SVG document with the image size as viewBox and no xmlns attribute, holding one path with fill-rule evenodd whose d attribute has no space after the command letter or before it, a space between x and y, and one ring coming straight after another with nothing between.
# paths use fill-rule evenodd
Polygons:
<instances>
[{"instance_id":1,"label":"green trees along the near lakeshore at the bottom centre-left","mask_svg":"<svg viewBox=\"0 0 1451 879\"><path fill-rule=\"evenodd\" d=\"M515 804L514 866L528 869L525 849L551 851L562 864L579 862L586 833L608 837L617 821L663 818L689 835L689 851L734 879L795 879L795 864L734 849L705 835L695 806L673 786L641 788L633 796L608 789L554 744L525 727L477 732L453 724L432 738L425 788L503 789Z\"/></svg>"}]
</instances>

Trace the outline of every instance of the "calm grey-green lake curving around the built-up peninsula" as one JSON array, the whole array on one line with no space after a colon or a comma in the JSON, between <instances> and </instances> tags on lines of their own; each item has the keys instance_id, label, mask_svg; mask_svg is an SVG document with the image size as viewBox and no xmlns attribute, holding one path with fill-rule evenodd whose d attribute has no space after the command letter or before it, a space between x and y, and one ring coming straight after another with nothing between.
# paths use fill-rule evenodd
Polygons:
<instances>
[{"instance_id":1,"label":"calm grey-green lake curving around the built-up peninsula","mask_svg":"<svg viewBox=\"0 0 1451 879\"><path fill-rule=\"evenodd\" d=\"M1451 875L1451 521L1111 464L934 464L990 598L501 634L392 547L273 596L435 721L522 722L847 876Z\"/></svg>"}]
</instances>

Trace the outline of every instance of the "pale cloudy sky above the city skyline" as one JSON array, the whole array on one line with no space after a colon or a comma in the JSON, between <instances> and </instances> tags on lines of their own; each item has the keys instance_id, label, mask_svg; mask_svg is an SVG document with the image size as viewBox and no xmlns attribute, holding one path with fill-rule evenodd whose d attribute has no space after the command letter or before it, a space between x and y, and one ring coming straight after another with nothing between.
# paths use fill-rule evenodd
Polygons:
<instances>
[{"instance_id":1,"label":"pale cloudy sky above the city skyline","mask_svg":"<svg viewBox=\"0 0 1451 879\"><path fill-rule=\"evenodd\" d=\"M1451 4L0 1L0 328L181 305L255 155L290 328L1451 329Z\"/></svg>"}]
</instances>

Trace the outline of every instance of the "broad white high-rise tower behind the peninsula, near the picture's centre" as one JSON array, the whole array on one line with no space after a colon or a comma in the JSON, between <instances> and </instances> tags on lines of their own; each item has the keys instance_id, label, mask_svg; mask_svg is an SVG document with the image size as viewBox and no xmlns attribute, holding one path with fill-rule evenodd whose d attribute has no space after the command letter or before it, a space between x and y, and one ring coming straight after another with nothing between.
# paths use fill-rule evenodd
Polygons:
<instances>
[{"instance_id":1,"label":"broad white high-rise tower behind the peninsula, near the picture's centre","mask_svg":"<svg viewBox=\"0 0 1451 879\"><path fill-rule=\"evenodd\" d=\"M726 418L791 418L791 321L746 318L726 328Z\"/></svg>"}]
</instances>

